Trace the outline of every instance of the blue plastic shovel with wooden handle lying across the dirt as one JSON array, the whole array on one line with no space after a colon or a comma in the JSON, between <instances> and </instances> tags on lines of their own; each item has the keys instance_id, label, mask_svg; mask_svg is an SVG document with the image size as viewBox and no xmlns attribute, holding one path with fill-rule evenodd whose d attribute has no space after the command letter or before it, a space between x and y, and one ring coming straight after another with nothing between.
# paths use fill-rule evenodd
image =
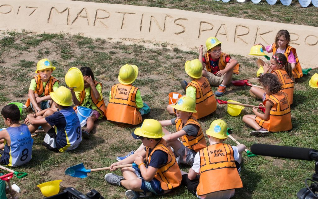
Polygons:
<instances>
[{"instance_id":1,"label":"blue plastic shovel with wooden handle lying across the dirt","mask_svg":"<svg viewBox=\"0 0 318 199\"><path fill-rule=\"evenodd\" d=\"M136 167L135 163L132 164L123 164L116 166L117 169L124 168L124 167ZM80 163L74 166L71 166L65 170L65 175L77 177L77 178L86 178L87 173L93 172L93 171L102 171L102 170L109 170L110 167L103 167L103 168L97 168L97 169L85 169L84 164Z\"/></svg>"}]
</instances>

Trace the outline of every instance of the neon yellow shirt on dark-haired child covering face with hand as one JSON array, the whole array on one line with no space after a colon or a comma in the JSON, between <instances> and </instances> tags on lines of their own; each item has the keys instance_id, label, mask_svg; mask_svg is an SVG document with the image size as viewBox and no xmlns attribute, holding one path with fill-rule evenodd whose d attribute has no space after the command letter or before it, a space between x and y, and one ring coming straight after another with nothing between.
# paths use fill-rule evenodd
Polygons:
<instances>
[{"instance_id":1,"label":"neon yellow shirt on dark-haired child covering face with hand","mask_svg":"<svg viewBox=\"0 0 318 199\"><path fill-rule=\"evenodd\" d=\"M82 107L86 107L86 108L90 108L92 110L97 110L99 113L100 113L100 116L98 119L101 119L103 117L103 114L101 113L101 111L97 108L97 106L92 103L92 97L91 97L91 87L88 87L88 88L85 88L85 98L83 100L83 102L79 105L79 106L82 106ZM98 93L100 94L100 97L98 98L98 101L101 101L103 100L103 94L101 93L101 86L100 84L97 84L96 85L96 90L98 91ZM78 101L81 100L82 96L81 96L81 92L75 92L75 96L76 96L76 99Z\"/></svg>"}]
</instances>

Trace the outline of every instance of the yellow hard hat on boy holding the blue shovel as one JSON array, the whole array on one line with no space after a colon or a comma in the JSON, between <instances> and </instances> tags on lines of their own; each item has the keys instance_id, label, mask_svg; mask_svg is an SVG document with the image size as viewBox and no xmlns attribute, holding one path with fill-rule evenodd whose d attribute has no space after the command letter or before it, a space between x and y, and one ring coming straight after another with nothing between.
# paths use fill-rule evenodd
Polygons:
<instances>
[{"instance_id":1,"label":"yellow hard hat on boy holding the blue shovel","mask_svg":"<svg viewBox=\"0 0 318 199\"><path fill-rule=\"evenodd\" d=\"M135 139L140 139L142 137L148 138L161 138L164 136L162 132L161 124L154 119L144 120L141 127L135 129L135 132L131 134Z\"/></svg>"}]
</instances>

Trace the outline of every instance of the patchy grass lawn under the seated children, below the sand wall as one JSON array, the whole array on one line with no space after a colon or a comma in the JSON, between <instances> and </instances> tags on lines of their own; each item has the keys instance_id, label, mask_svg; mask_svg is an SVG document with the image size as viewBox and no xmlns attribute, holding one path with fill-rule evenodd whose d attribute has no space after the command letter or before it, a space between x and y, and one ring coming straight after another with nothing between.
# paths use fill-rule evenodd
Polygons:
<instances>
[{"instance_id":1,"label":"patchy grass lawn under the seated children, below the sand wall","mask_svg":"<svg viewBox=\"0 0 318 199\"><path fill-rule=\"evenodd\" d=\"M30 32L3 32L0 35L0 46L0 108L10 102L26 101L36 63L44 57L57 67L52 75L60 80L60 85L65 85L64 76L69 68L91 67L95 78L104 85L103 96L106 103L110 87L118 81L120 67L130 63L139 67L139 76L134 85L140 88L143 100L150 103L151 112L146 119L157 120L173 118L166 111L168 93L184 93L179 83L182 79L189 81L184 72L184 63L198 56L198 52L168 49L165 43L155 43L149 48L142 43L124 45L112 43L111 39L91 39L65 34L35 35ZM226 49L224 51L226 52ZM241 63L241 73L233 76L235 80L256 76L257 67L254 63L258 57L233 57ZM318 149L318 90L308 86L312 74L314 71L295 84L293 129L290 132L274 133L262 138L250 137L248 132L252 129L245 127L242 117L251 114L252 109L245 108L239 116L232 117L227 114L226 105L218 105L215 113L200 119L199 123L205 132L213 120L225 120L229 127L234 129L232 136L248 148L253 143L270 143ZM216 89L212 88L213 91ZM249 87L231 85L220 99L257 105L259 101L252 98L248 90ZM29 113L31 112L23 111L22 119ZM3 127L5 126L1 119L0 128ZM93 172L85 179L65 176L64 171L69 166L82 162L87 169L106 167L115 162L116 156L123 156L140 145L141 142L130 135L135 128L102 119L96 122L89 140L83 140L77 149L67 153L47 150L42 145L45 135L40 134L34 138L31 162L16 168L17 171L24 171L29 175L22 180L13 177L11 183L17 183L21 188L20 198L25 199L43 198L36 185L57 179L63 180L62 190L72 186L86 194L90 189L97 189L105 198L123 198L126 191L124 188L109 185L104 181L106 171ZM175 131L174 127L168 129ZM226 143L235 145L231 140ZM264 156L247 157L245 153L243 158L241 178L244 188L236 191L235 198L296 198L298 190L305 187L303 180L310 178L314 172L314 162ZM188 171L190 167L180 168ZM120 171L116 173L119 174ZM167 195L154 198L195 197L180 187Z\"/></svg>"}]
</instances>

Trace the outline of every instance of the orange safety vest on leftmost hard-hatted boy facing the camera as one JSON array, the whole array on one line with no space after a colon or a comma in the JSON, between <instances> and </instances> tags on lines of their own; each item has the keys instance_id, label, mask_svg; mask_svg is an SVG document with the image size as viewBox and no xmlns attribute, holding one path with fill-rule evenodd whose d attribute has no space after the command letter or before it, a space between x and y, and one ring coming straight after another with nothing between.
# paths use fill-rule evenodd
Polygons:
<instances>
[{"instance_id":1,"label":"orange safety vest on leftmost hard-hatted boy facing the camera","mask_svg":"<svg viewBox=\"0 0 318 199\"><path fill-rule=\"evenodd\" d=\"M47 81L45 88L43 88L43 82L40 75L36 75L33 77L35 79L35 83L37 84L37 87L35 88L34 93L37 93L39 96L41 96L44 92L44 96L50 95L50 92L53 91L53 85L55 82L59 83L59 80L57 80L55 77L51 76L50 79ZM28 98L25 106L30 106L30 99Z\"/></svg>"}]
</instances>

